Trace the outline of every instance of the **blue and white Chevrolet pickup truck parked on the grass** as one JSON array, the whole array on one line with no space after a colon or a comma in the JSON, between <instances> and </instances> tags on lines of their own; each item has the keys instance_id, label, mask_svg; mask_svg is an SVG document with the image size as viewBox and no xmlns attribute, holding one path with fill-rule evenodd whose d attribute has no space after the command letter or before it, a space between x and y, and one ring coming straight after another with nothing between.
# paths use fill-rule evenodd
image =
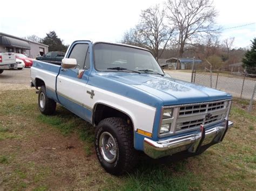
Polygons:
<instances>
[{"instance_id":1,"label":"blue and white Chevrolet pickup truck parked on the grass","mask_svg":"<svg viewBox=\"0 0 256 191\"><path fill-rule=\"evenodd\" d=\"M96 126L97 157L114 175L132 169L138 151L200 154L233 125L230 94L173 79L140 47L75 41L62 66L33 61L31 83L43 114L59 103Z\"/></svg>"}]
</instances>

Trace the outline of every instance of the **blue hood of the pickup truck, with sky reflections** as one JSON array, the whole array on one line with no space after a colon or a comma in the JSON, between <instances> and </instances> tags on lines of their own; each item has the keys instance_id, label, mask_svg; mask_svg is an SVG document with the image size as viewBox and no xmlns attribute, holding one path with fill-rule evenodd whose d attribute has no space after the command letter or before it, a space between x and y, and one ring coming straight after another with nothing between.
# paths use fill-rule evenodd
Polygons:
<instances>
[{"instance_id":1,"label":"blue hood of the pickup truck, with sky reflections","mask_svg":"<svg viewBox=\"0 0 256 191\"><path fill-rule=\"evenodd\" d=\"M157 107L186 103L210 102L232 98L230 94L197 84L154 74L96 72L88 82L133 100Z\"/></svg>"}]
</instances>

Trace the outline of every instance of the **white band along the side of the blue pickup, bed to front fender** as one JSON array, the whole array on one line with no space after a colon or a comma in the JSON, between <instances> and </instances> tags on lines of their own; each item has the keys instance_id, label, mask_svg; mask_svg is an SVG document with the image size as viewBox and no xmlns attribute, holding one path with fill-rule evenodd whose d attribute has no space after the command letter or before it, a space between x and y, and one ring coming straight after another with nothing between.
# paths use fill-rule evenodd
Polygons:
<instances>
[{"instance_id":1,"label":"white band along the side of the blue pickup, bed to front fender","mask_svg":"<svg viewBox=\"0 0 256 191\"><path fill-rule=\"evenodd\" d=\"M45 82L45 85L55 89L55 79L57 74L47 72L46 70L32 68L31 78L38 77ZM131 98L121 96L111 91L89 86L79 82L79 79L70 79L62 75L57 79L57 90L59 93L71 97L77 102L83 103L86 108L93 108L95 104L102 103L125 112L132 118L134 130L142 129L147 132L153 131L154 116L156 108L150 105L132 100ZM86 91L94 90L95 96L91 98Z\"/></svg>"}]
</instances>

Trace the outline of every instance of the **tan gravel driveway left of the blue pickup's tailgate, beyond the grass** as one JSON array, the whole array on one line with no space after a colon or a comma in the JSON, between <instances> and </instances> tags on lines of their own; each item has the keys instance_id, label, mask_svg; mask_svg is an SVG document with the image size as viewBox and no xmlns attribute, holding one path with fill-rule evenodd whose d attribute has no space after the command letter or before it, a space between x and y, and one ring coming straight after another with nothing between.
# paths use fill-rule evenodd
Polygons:
<instances>
[{"instance_id":1,"label":"tan gravel driveway left of the blue pickup's tailgate, beyond the grass","mask_svg":"<svg viewBox=\"0 0 256 191\"><path fill-rule=\"evenodd\" d=\"M4 70L0 74L0 91L30 88L30 68Z\"/></svg>"}]
</instances>

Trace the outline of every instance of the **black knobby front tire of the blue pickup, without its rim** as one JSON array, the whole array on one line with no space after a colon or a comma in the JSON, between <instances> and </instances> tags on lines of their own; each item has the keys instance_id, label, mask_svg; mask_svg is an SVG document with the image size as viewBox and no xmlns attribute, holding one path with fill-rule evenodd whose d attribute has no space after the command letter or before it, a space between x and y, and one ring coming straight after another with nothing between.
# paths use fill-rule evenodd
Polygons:
<instances>
[{"instance_id":1,"label":"black knobby front tire of the blue pickup, without its rim","mask_svg":"<svg viewBox=\"0 0 256 191\"><path fill-rule=\"evenodd\" d=\"M100 152L99 139L102 133L112 135L117 145L117 157L110 163ZM137 151L133 145L133 129L122 118L110 117L103 119L97 126L95 149L100 165L112 175L122 175L130 172L137 163Z\"/></svg>"}]
</instances>

